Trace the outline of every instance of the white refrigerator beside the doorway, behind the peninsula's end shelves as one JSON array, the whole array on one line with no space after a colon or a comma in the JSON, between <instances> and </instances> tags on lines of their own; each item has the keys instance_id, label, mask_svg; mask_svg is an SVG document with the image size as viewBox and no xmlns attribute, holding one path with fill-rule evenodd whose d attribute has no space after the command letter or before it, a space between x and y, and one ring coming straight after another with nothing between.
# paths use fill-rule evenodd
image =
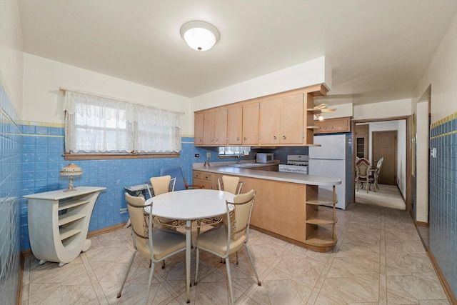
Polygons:
<instances>
[{"instance_id":1,"label":"white refrigerator beside the doorway, behind the peninsula's end shelves","mask_svg":"<svg viewBox=\"0 0 457 305\"><path fill-rule=\"evenodd\" d=\"M314 144L321 146L309 147L308 174L341 179L341 184L336 185L336 207L345 210L351 194L349 138L346 134L314 136ZM323 192L331 192L332 187L319 186L319 191L321 189Z\"/></svg>"}]
</instances>

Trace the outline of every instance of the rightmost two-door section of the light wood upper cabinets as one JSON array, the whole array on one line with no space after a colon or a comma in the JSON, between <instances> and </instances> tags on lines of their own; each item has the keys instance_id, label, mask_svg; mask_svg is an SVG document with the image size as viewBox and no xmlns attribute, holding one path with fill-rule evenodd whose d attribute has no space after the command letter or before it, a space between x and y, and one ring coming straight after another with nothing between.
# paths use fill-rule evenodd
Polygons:
<instances>
[{"instance_id":1,"label":"rightmost two-door section of the light wood upper cabinets","mask_svg":"<svg viewBox=\"0 0 457 305\"><path fill-rule=\"evenodd\" d=\"M303 94L261 101L261 144L303 144Z\"/></svg>"}]
</instances>

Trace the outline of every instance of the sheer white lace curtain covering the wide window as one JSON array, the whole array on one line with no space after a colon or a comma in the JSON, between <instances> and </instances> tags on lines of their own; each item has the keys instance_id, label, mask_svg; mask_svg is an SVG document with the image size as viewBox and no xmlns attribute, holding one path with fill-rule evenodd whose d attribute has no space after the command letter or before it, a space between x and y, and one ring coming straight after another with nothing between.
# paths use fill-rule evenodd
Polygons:
<instances>
[{"instance_id":1,"label":"sheer white lace curtain covering the wide window","mask_svg":"<svg viewBox=\"0 0 457 305\"><path fill-rule=\"evenodd\" d=\"M181 112L69 90L65 111L66 153L181 151Z\"/></svg>"}]
</instances>

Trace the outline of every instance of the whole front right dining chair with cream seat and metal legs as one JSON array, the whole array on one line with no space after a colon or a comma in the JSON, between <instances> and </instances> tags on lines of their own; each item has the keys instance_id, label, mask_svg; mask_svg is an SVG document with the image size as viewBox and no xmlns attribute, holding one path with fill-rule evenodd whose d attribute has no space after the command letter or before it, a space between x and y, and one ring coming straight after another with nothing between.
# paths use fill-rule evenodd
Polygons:
<instances>
[{"instance_id":1,"label":"whole front right dining chair with cream seat and metal legs","mask_svg":"<svg viewBox=\"0 0 457 305\"><path fill-rule=\"evenodd\" d=\"M205 231L196 238L195 285L197 284L199 273L200 250L208 251L221 259L225 259L231 304L233 304L234 300L229 255L236 253L236 264L238 264L238 251L243 246L248 254L254 274L256 274L257 284L261 286L256 266L253 263L251 251L249 251L248 247L249 222L251 221L251 211L255 197L256 191L251 190L245 194L236 195L233 198L233 202L226 201L227 224Z\"/></svg>"}]
</instances>

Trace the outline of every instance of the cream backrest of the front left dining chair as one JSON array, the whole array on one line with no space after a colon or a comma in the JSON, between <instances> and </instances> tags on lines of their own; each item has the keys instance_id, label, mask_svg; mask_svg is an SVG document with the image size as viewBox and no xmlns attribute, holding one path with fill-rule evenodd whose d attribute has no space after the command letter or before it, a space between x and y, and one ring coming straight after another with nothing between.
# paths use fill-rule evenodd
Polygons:
<instances>
[{"instance_id":1,"label":"cream backrest of the front left dining chair","mask_svg":"<svg viewBox=\"0 0 457 305\"><path fill-rule=\"evenodd\" d=\"M125 193L125 196L133 232L134 248L138 249L141 255L149 257L152 249L152 240L149 240L149 236L152 234L152 227L149 224L152 225L152 219L151 214L145 214L144 209L148 207L148 211L151 211L152 205L146 205L143 196L131 196L129 193ZM141 244L141 246L137 246L137 244Z\"/></svg>"}]
</instances>

